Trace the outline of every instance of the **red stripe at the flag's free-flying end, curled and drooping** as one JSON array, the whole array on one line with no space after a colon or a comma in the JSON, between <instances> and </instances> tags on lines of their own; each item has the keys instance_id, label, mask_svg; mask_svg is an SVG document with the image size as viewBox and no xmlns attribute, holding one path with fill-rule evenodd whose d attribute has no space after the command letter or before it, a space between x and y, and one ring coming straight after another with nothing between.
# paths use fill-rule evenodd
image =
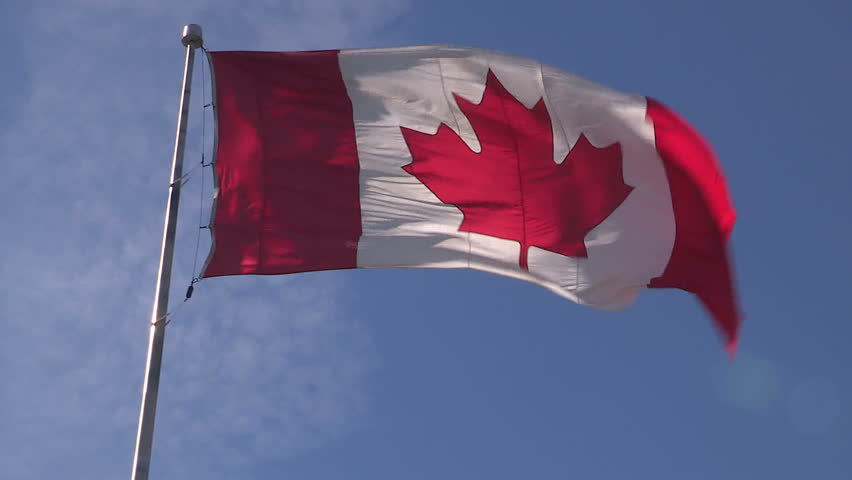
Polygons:
<instances>
[{"instance_id":1,"label":"red stripe at the flag's free-flying end, curled and drooping","mask_svg":"<svg viewBox=\"0 0 852 480\"><path fill-rule=\"evenodd\" d=\"M651 98L654 124L675 216L675 243L652 288L680 288L698 296L733 352L741 322L726 243L736 213L716 156L684 119Z\"/></svg>"}]
</instances>

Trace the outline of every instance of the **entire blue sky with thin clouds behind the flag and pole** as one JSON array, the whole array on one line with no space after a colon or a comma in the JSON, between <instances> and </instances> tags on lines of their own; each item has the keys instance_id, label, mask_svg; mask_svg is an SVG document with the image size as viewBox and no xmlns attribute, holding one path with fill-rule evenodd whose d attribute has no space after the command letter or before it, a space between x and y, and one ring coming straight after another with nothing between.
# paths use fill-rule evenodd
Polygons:
<instances>
[{"instance_id":1,"label":"entire blue sky with thin clouds behind the flag and pole","mask_svg":"<svg viewBox=\"0 0 852 480\"><path fill-rule=\"evenodd\" d=\"M470 45L662 100L727 173L746 324L728 363L677 291L610 314L467 271L208 280L167 333L152 478L852 475L852 4L178 3L0 6L0 476L129 476L191 22L214 50Z\"/></svg>"}]
</instances>

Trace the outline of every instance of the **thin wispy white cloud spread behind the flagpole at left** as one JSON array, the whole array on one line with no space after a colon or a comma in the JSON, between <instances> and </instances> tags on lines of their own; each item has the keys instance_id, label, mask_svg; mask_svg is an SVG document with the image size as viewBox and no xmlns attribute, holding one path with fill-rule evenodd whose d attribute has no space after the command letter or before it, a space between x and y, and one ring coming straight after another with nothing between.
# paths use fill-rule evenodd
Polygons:
<instances>
[{"instance_id":1,"label":"thin wispy white cloud spread behind the flagpole at left","mask_svg":"<svg viewBox=\"0 0 852 480\"><path fill-rule=\"evenodd\" d=\"M0 471L120 478L135 436L180 26L201 23L217 49L360 47L404 5L76 0L32 8L20 31L37 39L25 47L31 82L18 92L12 128L0 133L11 187L2 193L3 230L14 232L0 254ZM199 81L190 163L199 155ZM177 301L194 253L198 178L184 195ZM345 313L342 282L325 274L202 285L169 327L155 471L227 477L352 427L366 405L372 349L365 327Z\"/></svg>"}]
</instances>

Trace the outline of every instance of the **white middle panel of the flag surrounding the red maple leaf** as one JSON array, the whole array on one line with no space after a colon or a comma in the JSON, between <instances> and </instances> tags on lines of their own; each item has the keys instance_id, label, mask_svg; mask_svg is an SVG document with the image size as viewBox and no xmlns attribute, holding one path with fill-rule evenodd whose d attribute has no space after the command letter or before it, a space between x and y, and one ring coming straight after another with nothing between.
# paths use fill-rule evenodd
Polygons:
<instances>
[{"instance_id":1,"label":"white middle panel of the flag surrounding the red maple leaf","mask_svg":"<svg viewBox=\"0 0 852 480\"><path fill-rule=\"evenodd\" d=\"M595 85L538 62L455 47L345 50L340 68L352 100L360 161L358 266L474 268L538 283L578 303L619 309L662 274L674 245L669 187L645 119L645 99ZM554 161L581 133L598 147L619 142L627 199L585 239L588 258L460 232L462 213L402 169L412 162L400 126L434 134L444 123L480 146L452 94L478 103L491 69L526 107L541 98L552 117Z\"/></svg>"}]
</instances>

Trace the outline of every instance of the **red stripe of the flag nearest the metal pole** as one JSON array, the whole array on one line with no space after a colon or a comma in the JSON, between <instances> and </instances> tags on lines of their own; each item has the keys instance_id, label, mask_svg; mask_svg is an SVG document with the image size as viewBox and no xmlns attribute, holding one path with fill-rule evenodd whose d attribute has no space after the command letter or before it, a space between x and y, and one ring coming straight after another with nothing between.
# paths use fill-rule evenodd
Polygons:
<instances>
[{"instance_id":1,"label":"red stripe of the flag nearest the metal pole","mask_svg":"<svg viewBox=\"0 0 852 480\"><path fill-rule=\"evenodd\" d=\"M219 192L204 276L355 268L359 165L337 51L211 56Z\"/></svg>"}]
</instances>

